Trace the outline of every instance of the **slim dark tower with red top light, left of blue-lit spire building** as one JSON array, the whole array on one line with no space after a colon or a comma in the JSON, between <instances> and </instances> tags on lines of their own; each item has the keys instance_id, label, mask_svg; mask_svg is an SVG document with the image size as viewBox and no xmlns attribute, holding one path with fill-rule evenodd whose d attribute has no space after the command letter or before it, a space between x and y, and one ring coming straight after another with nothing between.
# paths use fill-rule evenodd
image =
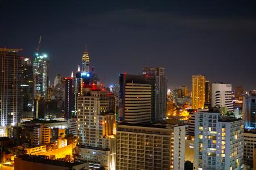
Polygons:
<instances>
[{"instance_id":1,"label":"slim dark tower with red top light, left of blue-lit spire building","mask_svg":"<svg viewBox=\"0 0 256 170\"><path fill-rule=\"evenodd\" d=\"M75 117L75 94L73 78L65 78L65 111L64 118L68 120Z\"/></svg>"}]
</instances>

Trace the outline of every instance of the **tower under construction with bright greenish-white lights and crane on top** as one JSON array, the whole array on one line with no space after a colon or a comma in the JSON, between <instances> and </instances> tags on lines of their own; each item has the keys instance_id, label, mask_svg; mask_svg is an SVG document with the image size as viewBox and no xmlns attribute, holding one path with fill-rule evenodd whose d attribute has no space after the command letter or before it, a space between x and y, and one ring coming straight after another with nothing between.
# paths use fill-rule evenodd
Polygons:
<instances>
[{"instance_id":1,"label":"tower under construction with bright greenish-white lights and crane on top","mask_svg":"<svg viewBox=\"0 0 256 170\"><path fill-rule=\"evenodd\" d=\"M47 88L49 86L49 61L46 54L36 53L33 63L34 74L34 98L47 98Z\"/></svg>"}]
</instances>

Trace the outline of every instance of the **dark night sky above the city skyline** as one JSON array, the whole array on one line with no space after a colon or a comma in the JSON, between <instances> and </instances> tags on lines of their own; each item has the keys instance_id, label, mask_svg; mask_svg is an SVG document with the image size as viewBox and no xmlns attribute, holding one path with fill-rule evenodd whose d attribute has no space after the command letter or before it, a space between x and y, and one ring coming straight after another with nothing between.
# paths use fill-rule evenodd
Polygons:
<instances>
[{"instance_id":1,"label":"dark night sky above the city skyline","mask_svg":"<svg viewBox=\"0 0 256 170\"><path fill-rule=\"evenodd\" d=\"M84 46L105 83L143 66L166 68L169 87L191 76L256 88L256 1L1 1L0 47L50 59L51 82L81 66Z\"/></svg>"}]
</instances>

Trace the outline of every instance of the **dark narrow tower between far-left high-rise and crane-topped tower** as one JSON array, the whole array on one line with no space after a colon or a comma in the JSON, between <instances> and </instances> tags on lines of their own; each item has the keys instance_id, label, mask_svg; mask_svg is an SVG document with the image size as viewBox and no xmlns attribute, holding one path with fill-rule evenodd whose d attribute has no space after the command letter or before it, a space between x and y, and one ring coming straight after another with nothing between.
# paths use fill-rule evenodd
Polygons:
<instances>
[{"instance_id":1,"label":"dark narrow tower between far-left high-rise and crane-topped tower","mask_svg":"<svg viewBox=\"0 0 256 170\"><path fill-rule=\"evenodd\" d=\"M34 99L34 80L33 80L33 66L30 58L22 57L22 111L31 112L33 108Z\"/></svg>"}]
</instances>

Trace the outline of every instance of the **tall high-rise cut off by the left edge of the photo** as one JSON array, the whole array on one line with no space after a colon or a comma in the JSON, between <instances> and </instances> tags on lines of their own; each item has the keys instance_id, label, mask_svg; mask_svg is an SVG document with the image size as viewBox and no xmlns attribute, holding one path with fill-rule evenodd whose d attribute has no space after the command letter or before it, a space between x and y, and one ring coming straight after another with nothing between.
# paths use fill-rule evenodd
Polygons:
<instances>
[{"instance_id":1,"label":"tall high-rise cut off by the left edge of the photo","mask_svg":"<svg viewBox=\"0 0 256 170\"><path fill-rule=\"evenodd\" d=\"M22 110L22 49L0 48L0 136L7 136L6 126L16 125Z\"/></svg>"}]
</instances>

